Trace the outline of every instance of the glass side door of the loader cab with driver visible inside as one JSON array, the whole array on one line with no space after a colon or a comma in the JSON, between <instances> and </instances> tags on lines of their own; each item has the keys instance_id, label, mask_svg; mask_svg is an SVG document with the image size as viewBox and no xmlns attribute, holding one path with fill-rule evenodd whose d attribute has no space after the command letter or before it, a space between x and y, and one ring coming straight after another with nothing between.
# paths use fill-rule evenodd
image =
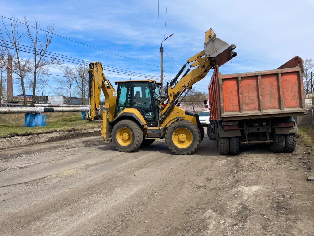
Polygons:
<instances>
[{"instance_id":1,"label":"glass side door of the loader cab with driver visible inside","mask_svg":"<svg viewBox=\"0 0 314 236\"><path fill-rule=\"evenodd\" d=\"M148 126L156 125L155 103L149 82L133 82L131 85L132 106L139 110Z\"/></svg>"}]
</instances>

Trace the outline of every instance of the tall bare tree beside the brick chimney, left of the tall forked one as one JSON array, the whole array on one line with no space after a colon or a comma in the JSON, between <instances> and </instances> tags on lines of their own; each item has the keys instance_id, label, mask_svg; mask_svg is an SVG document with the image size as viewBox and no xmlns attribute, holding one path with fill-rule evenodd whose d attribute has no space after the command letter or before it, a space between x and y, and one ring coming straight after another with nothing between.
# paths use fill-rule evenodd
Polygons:
<instances>
[{"instance_id":1,"label":"tall bare tree beside the brick chimney, left of the tall forked one","mask_svg":"<svg viewBox=\"0 0 314 236\"><path fill-rule=\"evenodd\" d=\"M29 73L29 61L20 59L20 42L24 36L24 33L19 32L21 24L14 20L12 16L10 18L10 24L6 24L3 20L3 28L0 29L0 35L2 44L7 53L12 55L13 60L13 73L18 76L19 84L21 85L24 106L27 106L26 93L24 86L24 77ZM6 37L5 37L6 36ZM7 39L7 40L6 40Z\"/></svg>"}]
</instances>

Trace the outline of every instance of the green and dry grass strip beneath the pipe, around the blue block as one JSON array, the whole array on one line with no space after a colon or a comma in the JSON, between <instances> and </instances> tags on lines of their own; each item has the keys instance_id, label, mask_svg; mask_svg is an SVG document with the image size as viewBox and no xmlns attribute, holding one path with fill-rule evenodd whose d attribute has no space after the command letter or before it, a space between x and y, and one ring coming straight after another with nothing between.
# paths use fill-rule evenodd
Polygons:
<instances>
[{"instance_id":1,"label":"green and dry grass strip beneath the pipe, around the blue block","mask_svg":"<svg viewBox=\"0 0 314 236\"><path fill-rule=\"evenodd\" d=\"M46 126L25 127L24 114L2 114L0 115L0 137L11 133L41 133L51 130L63 131L74 128L84 130L100 127L99 122L83 120L78 112L43 113L46 115Z\"/></svg>"}]
</instances>

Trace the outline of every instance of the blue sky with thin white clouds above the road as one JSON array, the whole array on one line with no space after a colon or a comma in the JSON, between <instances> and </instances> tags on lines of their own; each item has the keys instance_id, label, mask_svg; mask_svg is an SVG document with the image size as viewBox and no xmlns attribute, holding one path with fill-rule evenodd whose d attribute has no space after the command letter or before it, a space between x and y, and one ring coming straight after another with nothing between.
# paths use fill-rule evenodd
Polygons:
<instances>
[{"instance_id":1,"label":"blue sky with thin white clouds above the road","mask_svg":"<svg viewBox=\"0 0 314 236\"><path fill-rule=\"evenodd\" d=\"M223 74L275 69L298 55L314 58L314 1L0 1L0 14L23 20L23 15L41 19L41 28L54 24L54 33L151 65L114 56L54 36L49 51L104 65L131 68L160 76L159 42L181 64L203 50L204 33L213 28L217 37L237 45L238 56L223 65ZM158 36L159 33L159 36ZM25 38L27 44L27 38ZM26 55L27 56L27 55ZM68 66L73 67L70 63ZM166 79L171 79L181 65L164 54ZM49 68L60 74L58 68ZM141 70L135 70L141 69ZM170 72L173 74L171 74ZM106 72L105 72L106 74ZM206 92L208 76L194 87ZM129 79L126 75L106 74L111 81ZM112 78L116 77L116 78ZM132 76L132 79L139 79ZM51 94L56 86L50 76ZM15 94L15 93L14 93Z\"/></svg>"}]
</instances>

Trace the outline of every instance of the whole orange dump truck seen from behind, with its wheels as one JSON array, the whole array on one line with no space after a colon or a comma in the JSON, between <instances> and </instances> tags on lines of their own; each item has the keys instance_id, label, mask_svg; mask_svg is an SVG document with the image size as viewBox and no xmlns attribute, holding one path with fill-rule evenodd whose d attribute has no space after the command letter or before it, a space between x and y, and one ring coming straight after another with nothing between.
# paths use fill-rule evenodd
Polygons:
<instances>
[{"instance_id":1,"label":"whole orange dump truck seen from behind, with its wheels","mask_svg":"<svg viewBox=\"0 0 314 236\"><path fill-rule=\"evenodd\" d=\"M216 140L220 154L235 155L240 145L254 143L267 143L275 153L295 150L298 127L293 116L306 112L300 57L276 70L228 75L215 65L208 94L207 135Z\"/></svg>"}]
</instances>

